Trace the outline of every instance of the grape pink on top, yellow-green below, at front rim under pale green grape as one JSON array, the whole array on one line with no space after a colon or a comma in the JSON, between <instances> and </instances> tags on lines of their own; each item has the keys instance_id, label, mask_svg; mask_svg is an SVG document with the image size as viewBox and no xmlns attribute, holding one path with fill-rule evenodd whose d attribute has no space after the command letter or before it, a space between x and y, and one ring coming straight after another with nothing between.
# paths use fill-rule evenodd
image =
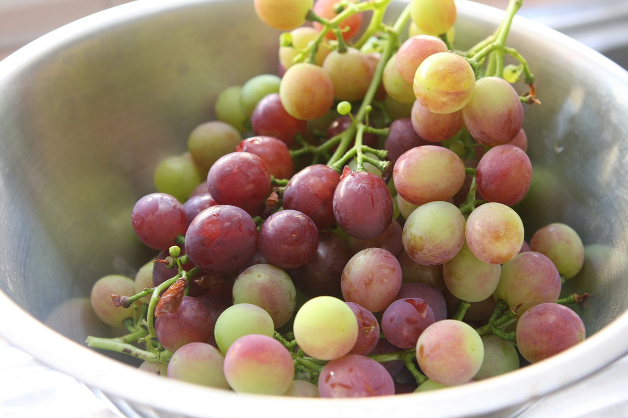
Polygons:
<instances>
[{"instance_id":1,"label":"grape pink on top, yellow-green below, at front rim under pale green grape","mask_svg":"<svg viewBox=\"0 0 628 418\"><path fill-rule=\"evenodd\" d=\"M279 341L259 334L238 338L225 354L224 373L239 393L283 395L295 374L290 352Z\"/></svg>"}]
</instances>

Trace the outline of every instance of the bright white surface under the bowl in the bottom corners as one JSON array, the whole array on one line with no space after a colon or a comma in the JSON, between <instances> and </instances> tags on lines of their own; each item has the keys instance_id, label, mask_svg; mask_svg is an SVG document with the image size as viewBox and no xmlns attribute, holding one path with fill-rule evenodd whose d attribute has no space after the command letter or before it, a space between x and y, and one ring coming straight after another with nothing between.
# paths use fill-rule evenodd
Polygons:
<instances>
[{"instance_id":1,"label":"bright white surface under the bowl in the bottom corners","mask_svg":"<svg viewBox=\"0 0 628 418\"><path fill-rule=\"evenodd\" d=\"M41 365L0 338L0 417L115 418L87 387ZM499 394L495 394L499 396ZM518 418L628 417L628 356L572 387L539 400Z\"/></svg>"}]
</instances>

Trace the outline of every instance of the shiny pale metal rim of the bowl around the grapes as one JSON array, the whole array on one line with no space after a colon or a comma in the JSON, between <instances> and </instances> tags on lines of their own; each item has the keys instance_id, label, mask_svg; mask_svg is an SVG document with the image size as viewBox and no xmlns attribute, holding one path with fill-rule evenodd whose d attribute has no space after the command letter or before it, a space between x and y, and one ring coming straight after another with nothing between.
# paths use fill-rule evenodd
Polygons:
<instances>
[{"instance_id":1,"label":"shiny pale metal rim of the bowl around the grapes","mask_svg":"<svg viewBox=\"0 0 628 418\"><path fill-rule=\"evenodd\" d=\"M136 0L97 12L55 29L4 58L0 62L0 80L5 75L11 75L19 68L28 66L41 55L41 51L50 53L49 51L57 46L78 40L85 34L95 33L112 23L121 24L150 14L166 13L178 8L217 1L230 0L178 0L176 2ZM504 15L501 9L484 4L468 0L457 0L456 3L458 13L462 15L479 12L482 13L482 18L498 22ZM623 77L628 84L628 72L600 53L551 28L516 16L513 30L522 26L525 26L526 31L577 51L575 53L592 62L604 64L607 71L617 73L618 77ZM67 373L88 387L98 389L112 398L195 417L210 415L241 417L244 414L250 414L251 410L255 410L257 416L276 415L279 397L235 394L141 372L85 345L75 343L52 330L24 311L2 291L0 291L0 318L19 318L19 321L0 321L2 338L34 356L36 360ZM604 368L628 353L628 344L617 344L617 341L621 341L620 338L627 333L628 311L620 314L614 321L582 343L554 356L551 361L543 360L499 377L453 387L447 391L422 394L362 399L281 397L281 407L286 410L291 407L298 408L304 417L316 417L322 413L340 416L355 412L358 407L360 414L365 417L379 417L382 414L389 414L394 409L418 408L421 410L421 415L425 417L469 416L495 412L539 399ZM41 344L41 341L46 341L46 344ZM591 356L590 353L593 352L604 353L604 355ZM124 376L124 378L115 378L116 376ZM155 396L156 393L167 395ZM448 402L450 399L456 399L457 402ZM207 405L211 405L212 409L209 409ZM443 405L447 405L446 410L443 410ZM175 406L176 410L173 409Z\"/></svg>"}]
</instances>

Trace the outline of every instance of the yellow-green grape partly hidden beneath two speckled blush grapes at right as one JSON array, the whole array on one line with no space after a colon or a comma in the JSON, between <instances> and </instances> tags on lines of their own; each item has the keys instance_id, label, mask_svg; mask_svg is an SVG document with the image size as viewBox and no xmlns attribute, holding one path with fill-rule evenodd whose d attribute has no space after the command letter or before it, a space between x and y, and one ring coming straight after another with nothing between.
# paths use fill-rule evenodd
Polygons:
<instances>
[{"instance_id":1,"label":"yellow-green grape partly hidden beneath two speckled blush grapes at right","mask_svg":"<svg viewBox=\"0 0 628 418\"><path fill-rule=\"evenodd\" d=\"M443 278L453 296L467 302L479 302L493 294L501 270L499 264L479 260L465 243L453 259L443 264Z\"/></svg>"}]
</instances>

